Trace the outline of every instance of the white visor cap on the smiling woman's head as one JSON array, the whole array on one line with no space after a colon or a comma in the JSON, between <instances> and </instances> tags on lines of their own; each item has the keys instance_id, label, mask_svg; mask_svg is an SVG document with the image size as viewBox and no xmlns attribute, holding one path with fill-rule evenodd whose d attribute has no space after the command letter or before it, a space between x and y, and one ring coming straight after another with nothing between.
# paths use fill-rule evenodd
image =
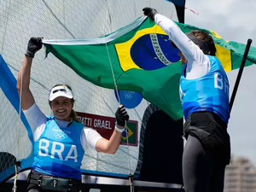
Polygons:
<instances>
[{"instance_id":1,"label":"white visor cap on the smiling woman's head","mask_svg":"<svg viewBox=\"0 0 256 192\"><path fill-rule=\"evenodd\" d=\"M55 86L49 91L49 102L52 102L58 96L64 96L72 99L73 91L70 90L66 85Z\"/></svg>"}]
</instances>

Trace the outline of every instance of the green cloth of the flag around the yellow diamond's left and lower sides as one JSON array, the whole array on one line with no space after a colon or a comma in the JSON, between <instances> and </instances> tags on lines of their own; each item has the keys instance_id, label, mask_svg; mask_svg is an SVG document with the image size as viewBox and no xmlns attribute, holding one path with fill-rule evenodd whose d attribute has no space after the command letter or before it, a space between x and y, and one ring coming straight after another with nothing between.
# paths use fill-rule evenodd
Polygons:
<instances>
[{"instance_id":1,"label":"green cloth of the flag around the yellow diamond's left and lower sides","mask_svg":"<svg viewBox=\"0 0 256 192\"><path fill-rule=\"evenodd\" d=\"M65 44L62 41L58 44L44 42L44 45L47 52L53 53L83 79L105 88L114 89L114 74L119 90L137 91L148 102L152 102L168 113L172 119L180 119L183 117L183 112L178 94L178 83L182 70L179 63L151 71L135 67L125 71L120 66L115 45L125 43L137 32L154 26L154 22L148 19L141 20L135 20L132 23L134 28L131 28L130 24L105 38L91 39L90 44L86 39L84 39L84 44L81 44L83 39L79 39L74 40L73 44L71 41L67 41ZM119 36L119 34L122 35ZM113 40L108 41L109 37ZM108 43L106 44L106 42ZM129 51L127 50L127 53Z\"/></svg>"}]
</instances>

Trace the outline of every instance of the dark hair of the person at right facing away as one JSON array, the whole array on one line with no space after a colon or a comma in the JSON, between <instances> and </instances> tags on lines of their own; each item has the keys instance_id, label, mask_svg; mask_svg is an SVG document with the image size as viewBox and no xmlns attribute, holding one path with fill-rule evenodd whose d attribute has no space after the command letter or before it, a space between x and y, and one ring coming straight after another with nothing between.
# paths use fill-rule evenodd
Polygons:
<instances>
[{"instance_id":1,"label":"dark hair of the person at right facing away","mask_svg":"<svg viewBox=\"0 0 256 192\"><path fill-rule=\"evenodd\" d=\"M202 42L206 43L209 47L209 52L205 53L207 55L216 55L216 47L213 41L213 38L211 35L209 35L207 32L202 32L199 30L195 30L193 32L189 32L189 34L192 34L195 36L195 38L198 38ZM203 50L203 49L202 49ZM204 50L203 50L204 51Z\"/></svg>"}]
</instances>

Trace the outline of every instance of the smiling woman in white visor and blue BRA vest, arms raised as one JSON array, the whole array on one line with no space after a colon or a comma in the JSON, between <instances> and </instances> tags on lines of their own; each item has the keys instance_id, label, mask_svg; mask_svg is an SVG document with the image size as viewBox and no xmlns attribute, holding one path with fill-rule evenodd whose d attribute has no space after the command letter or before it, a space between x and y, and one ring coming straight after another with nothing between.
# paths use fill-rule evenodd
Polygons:
<instances>
[{"instance_id":1,"label":"smiling woman in white visor and blue BRA vest, arms raised","mask_svg":"<svg viewBox=\"0 0 256 192\"><path fill-rule=\"evenodd\" d=\"M76 192L80 190L80 166L84 148L88 146L95 148L97 152L114 154L119 148L121 134L129 115L123 105L119 106L115 113L115 130L107 140L93 129L84 129L73 111L73 91L66 84L56 84L49 92L49 106L54 116L45 116L29 89L32 58L41 48L41 38L30 39L17 80L17 90L19 95L22 94L21 106L31 125L35 142L35 156L32 172L28 177L27 191ZM55 134L63 136L61 142Z\"/></svg>"}]
</instances>

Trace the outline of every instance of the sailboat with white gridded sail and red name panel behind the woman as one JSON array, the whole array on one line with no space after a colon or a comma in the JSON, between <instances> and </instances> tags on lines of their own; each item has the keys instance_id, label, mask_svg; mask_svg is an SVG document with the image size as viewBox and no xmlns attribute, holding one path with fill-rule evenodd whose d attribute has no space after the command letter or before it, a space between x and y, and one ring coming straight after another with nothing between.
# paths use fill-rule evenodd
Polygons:
<instances>
[{"instance_id":1,"label":"sailboat with white gridded sail and red name panel behind the woman","mask_svg":"<svg viewBox=\"0 0 256 192\"><path fill-rule=\"evenodd\" d=\"M32 131L15 90L15 80L29 38L99 38L137 20L143 15L144 7L154 7L172 20L183 22L184 1L7 0L0 3L1 191L14 185L17 167L20 169L18 180L26 183L26 172L33 160ZM150 186L149 189L154 189L154 186L181 187L183 119L174 121L137 92L91 84L55 55L49 54L45 58L45 52L40 50L33 60L30 87L38 107L47 115L51 113L49 90L55 84L71 85L75 93L74 109L79 119L107 138L113 131L114 112L119 106L117 92L123 97L121 102L129 106L131 121L116 154L86 150L81 167L84 183L90 183L88 176L94 176L98 178L93 182L96 184L100 183L101 177L123 179L122 182L126 183L124 189L130 189L131 183L140 189L144 185ZM20 186L18 191L22 189L22 184ZM111 190L114 191L114 187Z\"/></svg>"}]
</instances>

